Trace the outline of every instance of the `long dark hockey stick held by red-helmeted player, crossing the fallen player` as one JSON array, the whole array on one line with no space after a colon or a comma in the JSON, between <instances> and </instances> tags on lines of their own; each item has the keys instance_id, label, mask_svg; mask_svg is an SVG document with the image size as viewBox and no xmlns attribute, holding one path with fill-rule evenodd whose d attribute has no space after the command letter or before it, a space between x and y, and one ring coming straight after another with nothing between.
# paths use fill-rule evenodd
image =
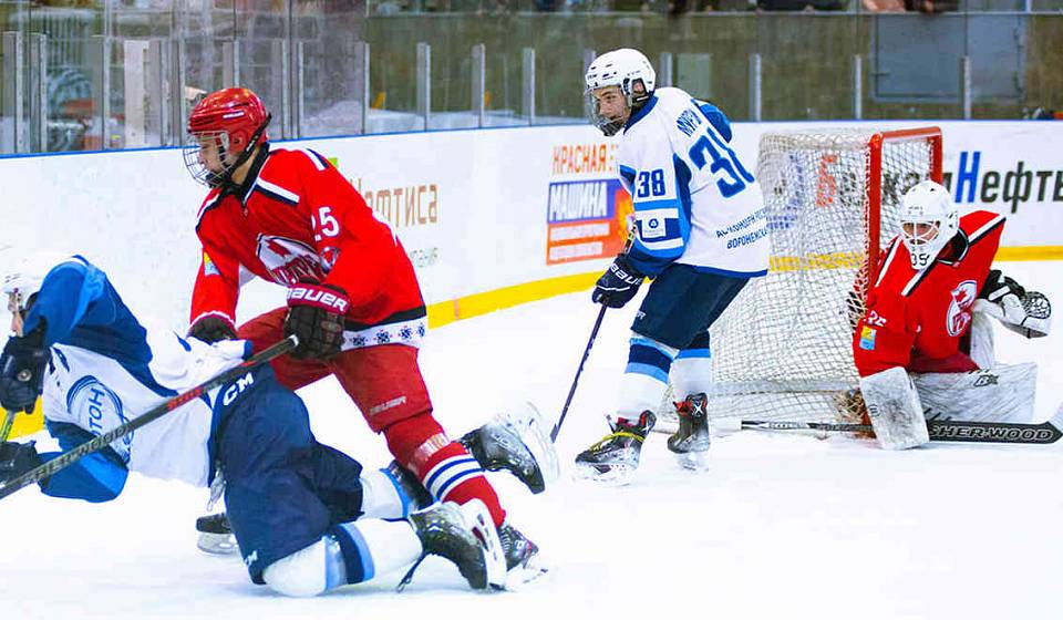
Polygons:
<instances>
[{"instance_id":1,"label":"long dark hockey stick held by red-helmeted player, crossing the fallen player","mask_svg":"<svg viewBox=\"0 0 1063 620\"><path fill-rule=\"evenodd\" d=\"M0 499L3 499L4 497L11 495L12 493L19 490L20 488L31 483L43 480L44 478L51 476L55 472L59 472L60 469L69 467L71 464L73 464L75 461L78 461L82 456L85 456L86 454L91 454L93 452L102 450L107 445L111 445L111 443L114 442L115 440L118 440L120 437L123 437L132 433L133 431L136 431L137 428L140 428L141 426L144 426L145 424L148 424L151 422L154 422L155 420L158 420L159 417L174 411L175 409L198 399L206 392L209 392L215 388L218 388L220 385L224 385L226 383L235 381L236 379L241 378L244 374L249 372L255 366L269 362L274 358L282 355L288 351L295 349L296 345L298 345L298 343L299 343L298 338L296 338L295 335L289 335L288 338L281 340L277 344L274 344L269 349L266 349L265 351L248 358L240 365L233 366L227 371L216 374L211 379L208 379L207 381L200 383L199 385L193 388L192 390L188 390L187 392L178 394L173 399L169 399L168 401L162 403L161 405L152 410L148 410L147 413L145 413L144 415L134 417L133 420L126 422L125 424L120 424L114 428L107 431L106 433L103 433L102 435L97 435L92 440L89 440L87 442L79 445L78 447L69 452L64 452L63 454L56 456L55 458L49 461L48 463L43 463L38 467L30 469L29 472L22 474L21 476L11 478L10 480L7 480L7 482L0 482Z\"/></svg>"}]
</instances>

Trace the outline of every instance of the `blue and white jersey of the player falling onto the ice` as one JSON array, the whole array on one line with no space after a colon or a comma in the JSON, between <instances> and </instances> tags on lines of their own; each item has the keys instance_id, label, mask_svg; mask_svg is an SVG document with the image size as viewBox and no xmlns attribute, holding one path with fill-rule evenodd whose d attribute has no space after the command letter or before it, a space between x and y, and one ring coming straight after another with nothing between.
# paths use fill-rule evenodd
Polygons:
<instances>
[{"instance_id":1,"label":"blue and white jersey of the player falling onto the ice","mask_svg":"<svg viewBox=\"0 0 1063 620\"><path fill-rule=\"evenodd\" d=\"M48 272L27 314L25 332L42 320L51 350L42 409L49 432L64 451L238 365L250 349L244 341L208 345L167 329L145 329L106 275L81 257ZM206 485L216 393L58 472L42 485L44 493L104 502L121 493L128 471Z\"/></svg>"}]
</instances>

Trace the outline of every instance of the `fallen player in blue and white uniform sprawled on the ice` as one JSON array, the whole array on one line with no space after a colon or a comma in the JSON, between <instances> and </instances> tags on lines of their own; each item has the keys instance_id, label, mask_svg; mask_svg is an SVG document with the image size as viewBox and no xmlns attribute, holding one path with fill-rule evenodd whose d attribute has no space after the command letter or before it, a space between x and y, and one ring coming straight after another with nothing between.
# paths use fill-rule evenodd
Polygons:
<instances>
[{"instance_id":1,"label":"fallen player in blue and white uniform sprawled on the ice","mask_svg":"<svg viewBox=\"0 0 1063 620\"><path fill-rule=\"evenodd\" d=\"M13 335L0 355L0 404L30 411L42 395L48 431L64 451L250 354L245 341L205 344L145 329L104 272L79 256L30 257L4 277L3 292ZM497 426L474 432L484 444L481 456L541 478L523 436ZM0 480L60 454L39 453L34 442L3 442ZM197 486L224 477L226 508L250 577L281 593L309 596L367 581L415 566L426 554L454 561L474 588L505 579L502 541L482 503L410 514L433 502L416 478L394 464L363 472L350 456L319 443L302 401L276 381L269 365L247 369L40 485L55 497L107 502L120 495L131 471Z\"/></svg>"}]
</instances>

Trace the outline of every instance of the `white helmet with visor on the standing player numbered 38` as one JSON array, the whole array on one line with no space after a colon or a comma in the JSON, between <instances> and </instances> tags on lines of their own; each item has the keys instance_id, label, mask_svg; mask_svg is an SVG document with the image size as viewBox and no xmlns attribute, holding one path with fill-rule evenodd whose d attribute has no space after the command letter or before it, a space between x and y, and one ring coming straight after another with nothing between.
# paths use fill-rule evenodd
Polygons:
<instances>
[{"instance_id":1,"label":"white helmet with visor on the standing player numbered 38","mask_svg":"<svg viewBox=\"0 0 1063 620\"><path fill-rule=\"evenodd\" d=\"M587 68L584 76L587 84L585 94L590 102L590 121L606 135L615 135L623 127L631 112L642 107L653 95L657 86L657 72L646 55L630 48L621 48L596 58ZM636 92L636 84L641 83L641 92ZM622 120L610 120L602 116L598 108L598 101L594 93L606 86L619 86L620 93L628 102L628 114Z\"/></svg>"}]
</instances>

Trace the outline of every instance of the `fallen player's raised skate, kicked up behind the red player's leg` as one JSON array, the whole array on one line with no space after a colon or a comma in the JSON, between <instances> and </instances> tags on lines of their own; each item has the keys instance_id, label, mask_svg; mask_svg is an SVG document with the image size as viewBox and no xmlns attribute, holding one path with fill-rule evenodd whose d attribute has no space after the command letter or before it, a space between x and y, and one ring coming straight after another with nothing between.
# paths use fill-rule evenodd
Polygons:
<instances>
[{"instance_id":1,"label":"fallen player's raised skate, kicked up behind the red player's leg","mask_svg":"<svg viewBox=\"0 0 1063 620\"><path fill-rule=\"evenodd\" d=\"M507 471L532 493L543 493L547 483L557 479L557 452L541 415L532 403L514 413L496 415L458 442L484 469Z\"/></svg>"}]
</instances>

